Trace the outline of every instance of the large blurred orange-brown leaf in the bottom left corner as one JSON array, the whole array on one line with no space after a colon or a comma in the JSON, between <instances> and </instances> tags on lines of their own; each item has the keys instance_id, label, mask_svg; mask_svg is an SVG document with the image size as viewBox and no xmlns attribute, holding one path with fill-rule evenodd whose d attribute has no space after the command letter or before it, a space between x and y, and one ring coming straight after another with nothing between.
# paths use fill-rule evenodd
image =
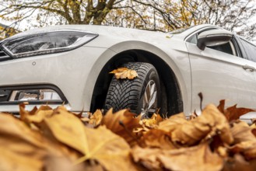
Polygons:
<instances>
[{"instance_id":1,"label":"large blurred orange-brown leaf in the bottom left corner","mask_svg":"<svg viewBox=\"0 0 256 171\"><path fill-rule=\"evenodd\" d=\"M11 115L0 113L0 122L0 170L41 170L44 138Z\"/></svg>"}]
</instances>

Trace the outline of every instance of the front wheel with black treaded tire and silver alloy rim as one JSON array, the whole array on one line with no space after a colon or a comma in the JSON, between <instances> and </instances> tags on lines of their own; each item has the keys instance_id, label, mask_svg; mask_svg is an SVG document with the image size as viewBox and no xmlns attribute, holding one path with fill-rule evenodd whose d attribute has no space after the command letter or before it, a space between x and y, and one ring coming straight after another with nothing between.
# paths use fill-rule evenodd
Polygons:
<instances>
[{"instance_id":1,"label":"front wheel with black treaded tire and silver alloy rim","mask_svg":"<svg viewBox=\"0 0 256 171\"><path fill-rule=\"evenodd\" d=\"M151 117L160 106L160 79L156 68L148 63L131 62L121 67L138 73L135 79L112 78L104 104L106 112L113 107L114 112L130 109L132 113Z\"/></svg>"}]
</instances>

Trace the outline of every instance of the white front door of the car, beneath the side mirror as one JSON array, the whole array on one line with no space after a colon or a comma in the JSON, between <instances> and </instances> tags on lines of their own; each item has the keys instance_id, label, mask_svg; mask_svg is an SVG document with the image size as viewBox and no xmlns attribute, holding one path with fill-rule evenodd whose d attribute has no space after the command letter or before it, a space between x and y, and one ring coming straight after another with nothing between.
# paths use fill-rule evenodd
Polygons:
<instances>
[{"instance_id":1,"label":"white front door of the car, beneath the side mirror","mask_svg":"<svg viewBox=\"0 0 256 171\"><path fill-rule=\"evenodd\" d=\"M218 105L220 99L226 99L226 106L237 103L255 109L254 62L240 57L236 40L230 40L224 51L218 46L202 51L196 45L196 37L194 33L186 42L191 63L191 110L200 109L198 92L203 95L202 107L209 103Z\"/></svg>"}]
</instances>

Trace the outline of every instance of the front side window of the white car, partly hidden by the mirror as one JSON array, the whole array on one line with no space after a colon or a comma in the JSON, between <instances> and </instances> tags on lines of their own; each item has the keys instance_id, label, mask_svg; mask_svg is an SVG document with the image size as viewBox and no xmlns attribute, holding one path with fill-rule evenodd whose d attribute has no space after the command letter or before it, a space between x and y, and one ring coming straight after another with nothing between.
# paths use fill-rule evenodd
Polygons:
<instances>
[{"instance_id":1,"label":"front side window of the white car, partly hidden by the mirror","mask_svg":"<svg viewBox=\"0 0 256 171\"><path fill-rule=\"evenodd\" d=\"M202 32L200 32L200 33L202 33ZM187 41L191 44L197 44L198 43L198 33L195 33L193 36L189 37ZM218 46L214 46L214 47L208 47L208 48L214 49L216 51L222 51L226 54L232 54L232 55L237 56L237 51L233 44L233 40L230 40L226 44L222 44L222 45L218 45Z\"/></svg>"}]
</instances>

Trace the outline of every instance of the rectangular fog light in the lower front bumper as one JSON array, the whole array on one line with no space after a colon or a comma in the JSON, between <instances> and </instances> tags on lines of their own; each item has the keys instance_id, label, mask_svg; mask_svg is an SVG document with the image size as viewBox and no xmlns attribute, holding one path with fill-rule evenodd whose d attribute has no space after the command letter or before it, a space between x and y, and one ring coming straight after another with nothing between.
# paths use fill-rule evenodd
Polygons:
<instances>
[{"instance_id":1,"label":"rectangular fog light in the lower front bumper","mask_svg":"<svg viewBox=\"0 0 256 171\"><path fill-rule=\"evenodd\" d=\"M13 90L9 102L17 101L62 101L61 97L53 89L21 89Z\"/></svg>"}]
</instances>

